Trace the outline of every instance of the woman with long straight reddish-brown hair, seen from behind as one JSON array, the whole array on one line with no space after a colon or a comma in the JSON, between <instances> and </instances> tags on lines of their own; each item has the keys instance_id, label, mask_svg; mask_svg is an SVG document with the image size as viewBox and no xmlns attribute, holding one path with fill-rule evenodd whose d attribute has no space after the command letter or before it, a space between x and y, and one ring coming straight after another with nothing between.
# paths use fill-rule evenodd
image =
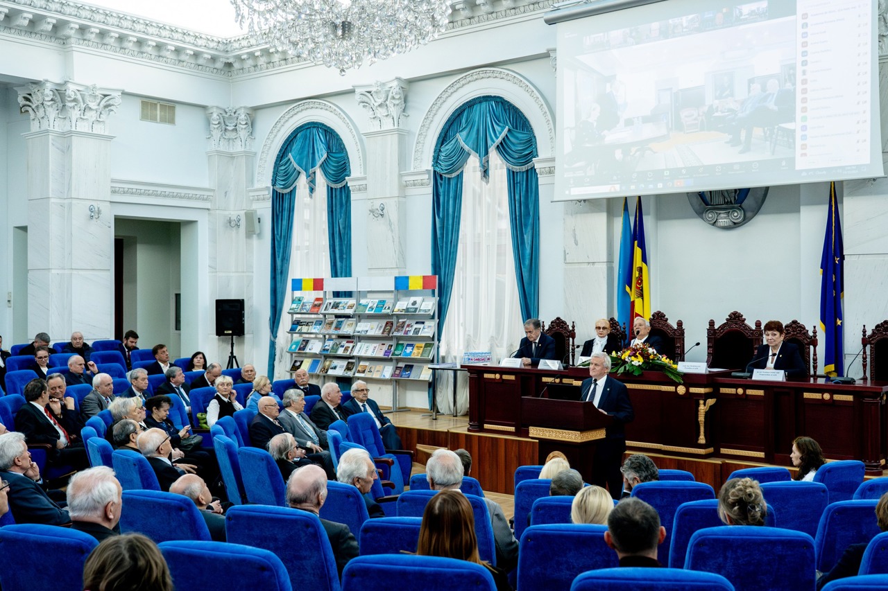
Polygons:
<instances>
[{"instance_id":1,"label":"woman with long straight reddish-brown hair, seen from behind","mask_svg":"<svg viewBox=\"0 0 888 591\"><path fill-rule=\"evenodd\" d=\"M505 572L481 560L472 505L459 491L442 491L429 500L419 527L416 554L480 564L490 571L497 591L511 591Z\"/></svg>"}]
</instances>

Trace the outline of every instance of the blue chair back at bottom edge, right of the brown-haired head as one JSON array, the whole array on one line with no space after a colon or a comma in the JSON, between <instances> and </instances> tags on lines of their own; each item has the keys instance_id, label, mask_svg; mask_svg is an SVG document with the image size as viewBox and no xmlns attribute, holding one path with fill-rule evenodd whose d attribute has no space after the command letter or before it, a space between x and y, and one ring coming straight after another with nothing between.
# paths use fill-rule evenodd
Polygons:
<instances>
[{"instance_id":1,"label":"blue chair back at bottom edge, right of the brown-haired head","mask_svg":"<svg viewBox=\"0 0 888 591\"><path fill-rule=\"evenodd\" d=\"M292 591L287 569L274 552L240 544L178 540L160 545L177 589Z\"/></svg>"}]
</instances>

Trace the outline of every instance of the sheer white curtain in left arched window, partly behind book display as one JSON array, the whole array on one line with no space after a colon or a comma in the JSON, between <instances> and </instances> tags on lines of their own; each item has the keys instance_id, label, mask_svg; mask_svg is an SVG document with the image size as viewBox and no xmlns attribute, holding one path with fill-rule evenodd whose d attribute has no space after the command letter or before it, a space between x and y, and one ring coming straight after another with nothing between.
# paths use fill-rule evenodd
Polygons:
<instances>
[{"instance_id":1,"label":"sheer white curtain in left arched window, partly behind book display","mask_svg":"<svg viewBox=\"0 0 888 591\"><path fill-rule=\"evenodd\" d=\"M330 256L327 234L327 181L318 170L314 193L309 195L308 182L301 175L296 185L296 210L293 212L293 250L289 255L289 279L294 277L329 277ZM291 377L289 366L292 356L287 352L292 336L287 334L291 325L289 317L289 288L281 314L281 325L275 339L274 377L282 380Z\"/></svg>"}]
</instances>

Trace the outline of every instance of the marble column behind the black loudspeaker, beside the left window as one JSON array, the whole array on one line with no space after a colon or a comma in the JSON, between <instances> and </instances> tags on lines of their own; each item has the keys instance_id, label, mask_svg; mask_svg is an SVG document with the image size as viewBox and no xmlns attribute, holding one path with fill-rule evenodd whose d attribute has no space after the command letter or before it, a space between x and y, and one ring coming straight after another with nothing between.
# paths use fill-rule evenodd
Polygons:
<instances>
[{"instance_id":1,"label":"marble column behind the black loudspeaker, beside the left window","mask_svg":"<svg viewBox=\"0 0 888 591\"><path fill-rule=\"evenodd\" d=\"M240 365L252 363L245 351L253 351L252 327L260 319L253 305L253 248L255 236L247 234L247 210L251 208L247 189L253 186L256 152L252 137L253 111L245 106L208 106L210 135L207 137L207 164L214 195L210 208L210 244L207 249L209 301L243 299L244 332L235 337L234 352ZM270 226L269 226L270 227ZM183 256L186 256L183 253ZM216 308L210 310L208 334L194 338L194 346L182 335L182 351L196 351L199 343L217 343L210 357L223 366L228 359L230 337L216 337ZM189 348L190 347L190 348Z\"/></svg>"}]
</instances>

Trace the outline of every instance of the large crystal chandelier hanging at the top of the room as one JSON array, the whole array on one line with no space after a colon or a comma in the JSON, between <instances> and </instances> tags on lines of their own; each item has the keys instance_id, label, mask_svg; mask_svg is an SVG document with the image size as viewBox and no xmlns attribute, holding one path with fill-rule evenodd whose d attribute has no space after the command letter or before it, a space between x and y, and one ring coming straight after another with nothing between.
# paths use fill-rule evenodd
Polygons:
<instances>
[{"instance_id":1,"label":"large crystal chandelier hanging at the top of the room","mask_svg":"<svg viewBox=\"0 0 888 591\"><path fill-rule=\"evenodd\" d=\"M427 43L444 30L449 0L231 0L237 22L277 50L339 74Z\"/></svg>"}]
</instances>

